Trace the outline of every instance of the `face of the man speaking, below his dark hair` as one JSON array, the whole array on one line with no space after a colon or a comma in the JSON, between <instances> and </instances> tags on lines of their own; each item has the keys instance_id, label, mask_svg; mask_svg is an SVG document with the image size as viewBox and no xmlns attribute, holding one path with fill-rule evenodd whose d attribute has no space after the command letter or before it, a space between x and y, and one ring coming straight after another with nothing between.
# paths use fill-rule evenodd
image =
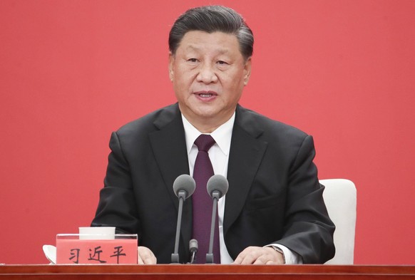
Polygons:
<instances>
[{"instance_id":1,"label":"face of the man speaking, below his dark hair","mask_svg":"<svg viewBox=\"0 0 415 280\"><path fill-rule=\"evenodd\" d=\"M235 112L250 78L251 60L240 53L237 37L204 31L185 33L169 70L180 111L198 125L222 125Z\"/></svg>"}]
</instances>

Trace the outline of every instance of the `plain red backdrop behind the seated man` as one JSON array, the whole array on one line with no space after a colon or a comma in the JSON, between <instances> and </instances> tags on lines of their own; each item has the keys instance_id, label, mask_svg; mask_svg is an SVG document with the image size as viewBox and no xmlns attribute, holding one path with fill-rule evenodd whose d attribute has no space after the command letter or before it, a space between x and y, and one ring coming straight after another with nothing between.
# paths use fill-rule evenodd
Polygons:
<instances>
[{"instance_id":1,"label":"plain red backdrop behind the seated man","mask_svg":"<svg viewBox=\"0 0 415 280\"><path fill-rule=\"evenodd\" d=\"M168 31L211 3L0 1L0 263L46 263L42 244L91 222L111 131L175 101ZM414 264L415 1L220 4L255 33L241 104L357 185L355 263Z\"/></svg>"}]
</instances>

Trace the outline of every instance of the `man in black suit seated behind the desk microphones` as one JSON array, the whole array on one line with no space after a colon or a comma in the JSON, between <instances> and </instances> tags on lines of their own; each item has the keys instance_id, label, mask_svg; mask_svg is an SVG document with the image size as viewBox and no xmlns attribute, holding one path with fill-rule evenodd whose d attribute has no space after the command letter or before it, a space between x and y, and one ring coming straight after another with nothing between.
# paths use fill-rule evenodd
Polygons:
<instances>
[{"instance_id":1,"label":"man in black suit seated behind the desk microphones","mask_svg":"<svg viewBox=\"0 0 415 280\"><path fill-rule=\"evenodd\" d=\"M219 204L222 264L324 263L334 224L319 185L312 137L238 105L251 71L253 36L222 6L186 11L169 36L169 75L178 103L120 128L93 226L137 233L139 261L169 263L178 198L173 182L193 174L200 134L211 135L215 174L229 190ZM186 199L180 261L189 261L192 199Z\"/></svg>"}]
</instances>

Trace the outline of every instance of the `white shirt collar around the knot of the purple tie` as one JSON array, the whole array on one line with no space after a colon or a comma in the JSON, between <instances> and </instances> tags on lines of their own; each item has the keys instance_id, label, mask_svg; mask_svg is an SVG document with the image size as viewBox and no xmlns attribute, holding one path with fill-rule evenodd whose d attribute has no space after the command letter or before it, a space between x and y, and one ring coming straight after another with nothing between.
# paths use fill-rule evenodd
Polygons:
<instances>
[{"instance_id":1,"label":"white shirt collar around the knot of the purple tie","mask_svg":"<svg viewBox=\"0 0 415 280\"><path fill-rule=\"evenodd\" d=\"M199 135L203 133L201 133L191 123L189 123L189 121L185 118L183 114L182 120L183 127L185 128L186 147L188 149L189 154L190 150L192 150L196 138L198 138ZM233 113L232 117L230 117L230 119L227 120L226 123L220 125L220 127L216 128L212 133L207 133L210 134L213 139L215 139L216 144L219 146L220 150L222 150L222 152L225 155L228 155L230 151L230 140L232 138L232 129L234 123L235 113Z\"/></svg>"}]
</instances>

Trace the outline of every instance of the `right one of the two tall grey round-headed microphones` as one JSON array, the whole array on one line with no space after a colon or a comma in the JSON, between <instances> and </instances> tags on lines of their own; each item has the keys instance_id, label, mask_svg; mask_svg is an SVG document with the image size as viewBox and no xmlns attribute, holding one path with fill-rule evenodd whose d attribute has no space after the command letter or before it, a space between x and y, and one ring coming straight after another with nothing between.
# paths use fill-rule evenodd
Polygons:
<instances>
[{"instance_id":1,"label":"right one of the two tall grey round-headed microphones","mask_svg":"<svg viewBox=\"0 0 415 280\"><path fill-rule=\"evenodd\" d=\"M223 197L227 193L229 183L222 175L213 175L207 181L207 193L213 199L212 207L212 224L210 224L210 239L209 239L209 251L206 254L206 264L213 264L213 237L215 235L215 222L217 211L217 200Z\"/></svg>"}]
</instances>

